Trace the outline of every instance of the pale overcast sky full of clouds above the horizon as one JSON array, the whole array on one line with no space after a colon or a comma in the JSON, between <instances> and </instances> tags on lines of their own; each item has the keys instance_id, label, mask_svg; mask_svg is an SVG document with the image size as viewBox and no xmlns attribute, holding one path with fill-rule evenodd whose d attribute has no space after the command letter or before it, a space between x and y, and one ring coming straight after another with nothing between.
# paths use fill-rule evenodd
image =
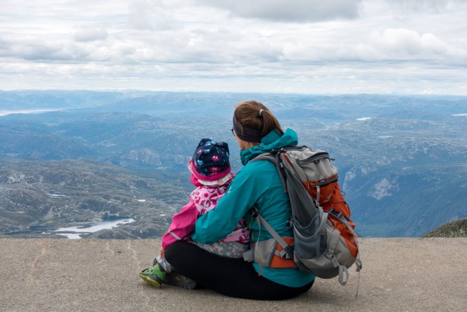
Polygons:
<instances>
[{"instance_id":1,"label":"pale overcast sky full of clouds above the horizon","mask_svg":"<svg viewBox=\"0 0 467 312\"><path fill-rule=\"evenodd\" d=\"M0 0L0 89L467 95L467 0Z\"/></svg>"}]
</instances>

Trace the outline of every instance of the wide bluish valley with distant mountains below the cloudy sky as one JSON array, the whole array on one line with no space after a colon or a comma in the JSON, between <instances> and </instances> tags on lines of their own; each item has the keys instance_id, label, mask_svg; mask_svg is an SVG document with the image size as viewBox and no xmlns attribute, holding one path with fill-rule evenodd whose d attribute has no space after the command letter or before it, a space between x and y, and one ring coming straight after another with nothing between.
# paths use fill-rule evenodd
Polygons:
<instances>
[{"instance_id":1,"label":"wide bluish valley with distant mountains below the cloudy sky","mask_svg":"<svg viewBox=\"0 0 467 312\"><path fill-rule=\"evenodd\" d=\"M336 159L361 236L467 216L466 97L0 91L0 111L59 109L0 114L0 235L124 216L135 222L91 236L160 236L192 189L194 146L224 140L234 160L231 113L251 98Z\"/></svg>"}]
</instances>

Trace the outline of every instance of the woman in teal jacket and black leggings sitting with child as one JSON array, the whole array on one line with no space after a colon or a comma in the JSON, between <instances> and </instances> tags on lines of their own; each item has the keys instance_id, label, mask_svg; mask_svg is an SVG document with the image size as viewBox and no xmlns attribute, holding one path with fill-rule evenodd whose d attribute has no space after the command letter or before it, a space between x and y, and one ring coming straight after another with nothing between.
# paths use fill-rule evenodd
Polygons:
<instances>
[{"instance_id":1,"label":"woman in teal jacket and black leggings sitting with child","mask_svg":"<svg viewBox=\"0 0 467 312\"><path fill-rule=\"evenodd\" d=\"M192 240L214 243L232 232L242 218L249 225L251 242L271 238L251 216L255 206L282 237L291 237L291 206L284 193L277 168L270 161L251 161L256 156L284 146L297 145L297 133L284 133L274 115L260 102L237 105L232 129L244 167L216 205L196 221ZM174 271L208 289L227 296L259 300L288 299L310 289L315 276L299 271L292 260L282 268L259 267L243 259L225 258L179 241L166 249ZM285 268L284 268L285 267Z\"/></svg>"}]
</instances>

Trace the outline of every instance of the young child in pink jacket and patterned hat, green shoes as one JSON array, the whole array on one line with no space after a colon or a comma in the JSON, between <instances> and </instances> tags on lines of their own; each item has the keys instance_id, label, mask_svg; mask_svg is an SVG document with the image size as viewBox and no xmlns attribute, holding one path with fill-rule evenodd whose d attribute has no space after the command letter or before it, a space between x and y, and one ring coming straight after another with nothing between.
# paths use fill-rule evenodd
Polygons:
<instances>
[{"instance_id":1,"label":"young child in pink jacket and patterned hat, green shoes","mask_svg":"<svg viewBox=\"0 0 467 312\"><path fill-rule=\"evenodd\" d=\"M205 214L216 207L218 201L224 196L229 184L234 179L229 163L229 146L225 142L213 142L204 138L199 142L192 159L188 162L188 170L192 172L190 181L196 189L190 194L190 202L174 214L168 232L162 236L161 255L155 260L154 267L139 272L139 277L155 287L161 287L166 281L166 274L172 267L163 258L168 245L181 240L189 240L198 216ZM192 241L199 247L230 258L241 258L242 252L248 249L249 230L244 219L240 220L234 232L222 240L212 244L201 244ZM169 277L172 274L169 274ZM194 288L194 281L176 276L176 285L184 288ZM173 279L166 281L174 283Z\"/></svg>"}]
</instances>

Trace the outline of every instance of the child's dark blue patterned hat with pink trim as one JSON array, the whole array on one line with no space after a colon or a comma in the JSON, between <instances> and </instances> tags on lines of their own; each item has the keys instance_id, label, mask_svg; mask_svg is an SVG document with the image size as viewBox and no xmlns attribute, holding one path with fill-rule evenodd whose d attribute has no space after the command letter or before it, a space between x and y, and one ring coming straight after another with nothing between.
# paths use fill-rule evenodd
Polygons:
<instances>
[{"instance_id":1,"label":"child's dark blue patterned hat with pink trim","mask_svg":"<svg viewBox=\"0 0 467 312\"><path fill-rule=\"evenodd\" d=\"M230 173L229 144L202 139L191 160L191 171L203 181L216 181Z\"/></svg>"}]
</instances>

